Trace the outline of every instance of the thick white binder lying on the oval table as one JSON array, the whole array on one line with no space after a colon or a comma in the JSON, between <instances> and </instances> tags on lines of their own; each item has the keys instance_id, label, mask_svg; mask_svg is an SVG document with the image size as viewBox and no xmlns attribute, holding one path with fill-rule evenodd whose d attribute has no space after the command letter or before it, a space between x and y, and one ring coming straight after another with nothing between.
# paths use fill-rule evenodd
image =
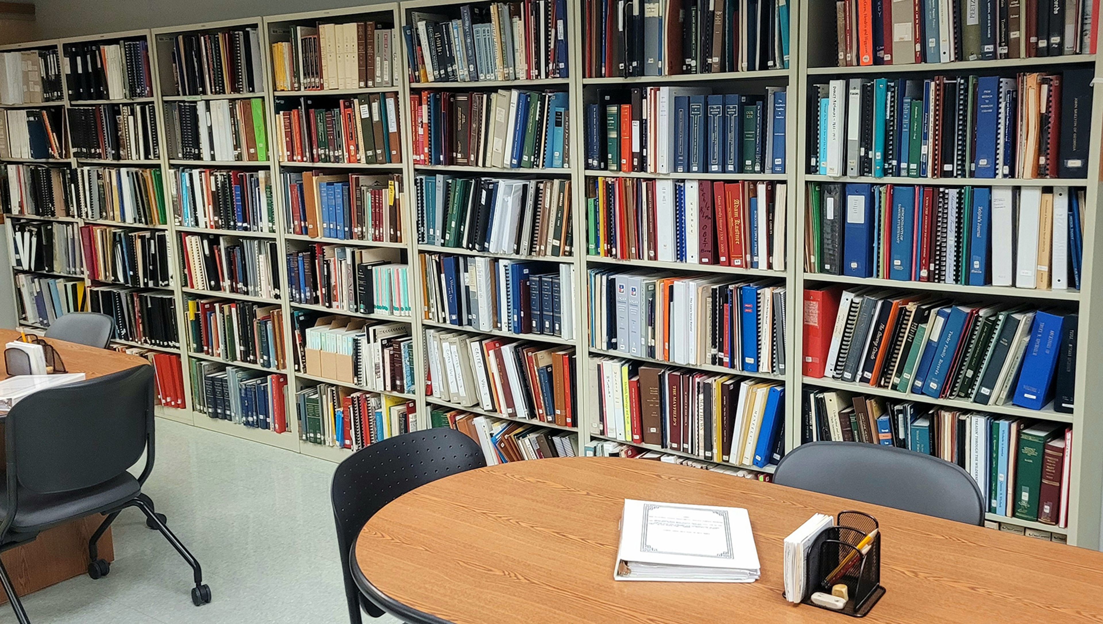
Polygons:
<instances>
[{"instance_id":1,"label":"thick white binder lying on the oval table","mask_svg":"<svg viewBox=\"0 0 1103 624\"><path fill-rule=\"evenodd\" d=\"M624 501L615 580L750 583L759 574L747 509Z\"/></svg>"}]
</instances>

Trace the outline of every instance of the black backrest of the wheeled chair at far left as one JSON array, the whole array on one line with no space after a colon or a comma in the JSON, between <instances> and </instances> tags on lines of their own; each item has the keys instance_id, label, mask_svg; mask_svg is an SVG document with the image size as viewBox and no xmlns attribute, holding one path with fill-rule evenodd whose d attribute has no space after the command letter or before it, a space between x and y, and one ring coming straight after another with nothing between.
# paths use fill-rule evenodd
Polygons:
<instances>
[{"instance_id":1,"label":"black backrest of the wheeled chair at far left","mask_svg":"<svg viewBox=\"0 0 1103 624\"><path fill-rule=\"evenodd\" d=\"M40 494L115 478L152 435L153 391L153 367L142 365L28 396L8 412L9 469Z\"/></svg>"}]
</instances>

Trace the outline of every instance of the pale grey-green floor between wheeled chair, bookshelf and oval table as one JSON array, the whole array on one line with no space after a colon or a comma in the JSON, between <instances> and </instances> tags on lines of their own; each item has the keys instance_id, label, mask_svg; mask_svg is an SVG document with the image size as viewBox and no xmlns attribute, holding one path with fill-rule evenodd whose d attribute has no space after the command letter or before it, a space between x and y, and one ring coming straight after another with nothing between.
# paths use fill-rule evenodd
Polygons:
<instances>
[{"instance_id":1,"label":"pale grey-green floor between wheeled chair, bookshelf and oval table","mask_svg":"<svg viewBox=\"0 0 1103 624\"><path fill-rule=\"evenodd\" d=\"M146 528L141 512L128 509L114 525L110 574L26 596L31 621L349 622L329 497L336 464L163 419L157 427L157 462L144 491L202 563L213 601L192 605L191 568ZM0 605L0 624L14 622Z\"/></svg>"}]
</instances>

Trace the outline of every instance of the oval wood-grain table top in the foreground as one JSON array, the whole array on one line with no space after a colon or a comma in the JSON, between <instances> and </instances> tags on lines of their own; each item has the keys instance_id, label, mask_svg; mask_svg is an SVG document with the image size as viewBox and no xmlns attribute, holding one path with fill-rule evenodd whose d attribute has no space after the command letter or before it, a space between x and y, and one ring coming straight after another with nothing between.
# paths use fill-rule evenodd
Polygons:
<instances>
[{"instance_id":1,"label":"oval wood-grain table top in the foreground","mask_svg":"<svg viewBox=\"0 0 1103 624\"><path fill-rule=\"evenodd\" d=\"M759 581L613 581L625 498L746 507ZM856 509L881 527L887 593L866 622L1103 622L1103 553L846 498L646 460L515 462L452 475L377 513L356 544L365 578L456 624L824 622L782 598L785 536Z\"/></svg>"}]
</instances>

